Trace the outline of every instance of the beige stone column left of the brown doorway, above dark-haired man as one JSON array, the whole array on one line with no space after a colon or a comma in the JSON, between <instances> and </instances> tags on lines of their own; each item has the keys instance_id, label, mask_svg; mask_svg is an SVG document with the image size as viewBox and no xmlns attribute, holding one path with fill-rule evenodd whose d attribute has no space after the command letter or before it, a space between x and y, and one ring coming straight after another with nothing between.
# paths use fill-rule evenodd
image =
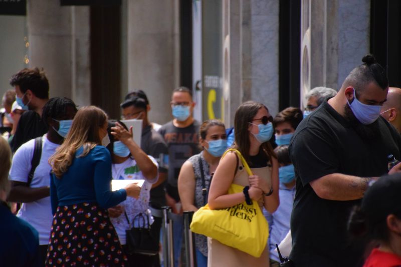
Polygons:
<instances>
[{"instance_id":1,"label":"beige stone column left of the brown doorway, above dark-haired man","mask_svg":"<svg viewBox=\"0 0 401 267\"><path fill-rule=\"evenodd\" d=\"M50 97L90 104L89 8L29 0L29 67L44 68Z\"/></svg>"}]
</instances>

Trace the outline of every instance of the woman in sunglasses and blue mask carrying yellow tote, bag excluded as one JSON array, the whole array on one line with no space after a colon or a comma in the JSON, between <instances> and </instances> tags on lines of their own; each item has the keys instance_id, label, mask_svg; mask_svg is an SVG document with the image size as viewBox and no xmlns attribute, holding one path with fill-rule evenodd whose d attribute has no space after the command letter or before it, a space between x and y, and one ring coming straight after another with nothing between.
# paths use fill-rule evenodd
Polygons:
<instances>
[{"instance_id":1,"label":"woman in sunglasses and blue mask carrying yellow tote, bag excluded","mask_svg":"<svg viewBox=\"0 0 401 267\"><path fill-rule=\"evenodd\" d=\"M227 153L212 179L208 198L210 209L227 209L244 201L257 202L260 208L264 206L269 212L277 209L278 162L268 142L273 134L272 119L269 110L257 102L245 102L237 109L234 148L242 154L253 175L248 174L235 152ZM243 192L229 192L232 184L244 186ZM249 230L242 229L244 232ZM269 266L269 249L265 246L261 255L256 257L209 238L208 266Z\"/></svg>"}]
</instances>

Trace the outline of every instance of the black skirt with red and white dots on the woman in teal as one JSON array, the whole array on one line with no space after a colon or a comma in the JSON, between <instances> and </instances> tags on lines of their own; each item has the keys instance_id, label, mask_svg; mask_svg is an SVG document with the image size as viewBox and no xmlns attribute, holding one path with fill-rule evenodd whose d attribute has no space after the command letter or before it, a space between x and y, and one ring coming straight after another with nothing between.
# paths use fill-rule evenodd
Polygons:
<instances>
[{"instance_id":1,"label":"black skirt with red and white dots on the woman in teal","mask_svg":"<svg viewBox=\"0 0 401 267\"><path fill-rule=\"evenodd\" d=\"M57 207L46 266L128 266L107 211L96 203Z\"/></svg>"}]
</instances>

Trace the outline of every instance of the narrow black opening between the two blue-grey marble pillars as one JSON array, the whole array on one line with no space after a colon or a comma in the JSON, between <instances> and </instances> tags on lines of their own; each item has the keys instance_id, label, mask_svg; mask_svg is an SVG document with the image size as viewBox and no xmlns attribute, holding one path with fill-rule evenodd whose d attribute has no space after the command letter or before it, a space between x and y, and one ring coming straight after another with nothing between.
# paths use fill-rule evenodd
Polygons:
<instances>
[{"instance_id":1,"label":"narrow black opening between the two blue-grey marble pillars","mask_svg":"<svg viewBox=\"0 0 401 267\"><path fill-rule=\"evenodd\" d=\"M299 107L301 69L301 1L280 0L279 109Z\"/></svg>"}]
</instances>

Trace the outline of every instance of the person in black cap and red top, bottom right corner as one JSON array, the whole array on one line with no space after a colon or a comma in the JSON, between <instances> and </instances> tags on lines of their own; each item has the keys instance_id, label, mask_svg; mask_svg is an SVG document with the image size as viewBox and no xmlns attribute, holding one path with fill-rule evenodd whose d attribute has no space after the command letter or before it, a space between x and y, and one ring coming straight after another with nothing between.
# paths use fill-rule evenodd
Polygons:
<instances>
[{"instance_id":1,"label":"person in black cap and red top, bottom right corner","mask_svg":"<svg viewBox=\"0 0 401 267\"><path fill-rule=\"evenodd\" d=\"M401 266L401 174L379 178L355 207L348 229L355 236L377 241L363 267Z\"/></svg>"}]
</instances>

